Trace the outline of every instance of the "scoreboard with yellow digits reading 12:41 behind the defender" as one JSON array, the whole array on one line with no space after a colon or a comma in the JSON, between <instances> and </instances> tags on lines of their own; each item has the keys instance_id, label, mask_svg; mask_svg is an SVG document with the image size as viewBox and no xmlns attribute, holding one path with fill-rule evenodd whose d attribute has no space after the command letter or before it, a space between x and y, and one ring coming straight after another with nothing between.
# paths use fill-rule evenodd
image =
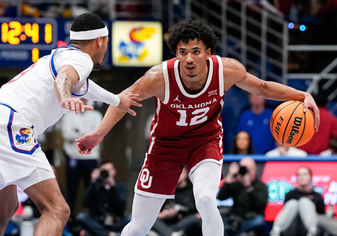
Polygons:
<instances>
[{"instance_id":1,"label":"scoreboard with yellow digits reading 12:41 behind the defender","mask_svg":"<svg viewBox=\"0 0 337 236\"><path fill-rule=\"evenodd\" d=\"M57 47L55 19L0 18L0 25L1 66L28 66Z\"/></svg>"}]
</instances>

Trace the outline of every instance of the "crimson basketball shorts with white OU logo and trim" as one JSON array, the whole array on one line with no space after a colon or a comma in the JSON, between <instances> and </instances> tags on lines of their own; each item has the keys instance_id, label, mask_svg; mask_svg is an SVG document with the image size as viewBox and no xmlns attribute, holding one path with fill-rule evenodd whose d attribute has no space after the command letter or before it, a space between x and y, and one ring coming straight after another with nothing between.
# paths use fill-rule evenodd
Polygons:
<instances>
[{"instance_id":1,"label":"crimson basketball shorts with white OU logo and trim","mask_svg":"<svg viewBox=\"0 0 337 236\"><path fill-rule=\"evenodd\" d=\"M151 137L149 151L139 173L135 193L174 198L179 176L187 165L189 176L205 162L222 165L222 137L159 140Z\"/></svg>"}]
</instances>

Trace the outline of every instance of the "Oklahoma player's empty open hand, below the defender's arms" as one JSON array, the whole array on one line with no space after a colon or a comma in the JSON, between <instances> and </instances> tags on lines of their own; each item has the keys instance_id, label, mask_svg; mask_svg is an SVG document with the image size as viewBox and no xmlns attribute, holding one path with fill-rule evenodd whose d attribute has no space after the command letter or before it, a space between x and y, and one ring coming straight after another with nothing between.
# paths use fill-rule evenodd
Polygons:
<instances>
[{"instance_id":1,"label":"Oklahoma player's empty open hand, below the defender's arms","mask_svg":"<svg viewBox=\"0 0 337 236\"><path fill-rule=\"evenodd\" d=\"M92 148L101 143L102 140L103 136L95 130L82 136L79 139L76 139L76 148L81 154L91 154Z\"/></svg>"}]
</instances>

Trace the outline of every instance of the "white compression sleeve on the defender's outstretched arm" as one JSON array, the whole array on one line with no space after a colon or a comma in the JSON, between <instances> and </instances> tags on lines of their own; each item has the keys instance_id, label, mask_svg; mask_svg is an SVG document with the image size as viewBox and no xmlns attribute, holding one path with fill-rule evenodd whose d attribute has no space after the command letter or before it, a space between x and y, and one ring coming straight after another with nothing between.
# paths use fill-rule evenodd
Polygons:
<instances>
[{"instance_id":1,"label":"white compression sleeve on the defender's outstretched arm","mask_svg":"<svg viewBox=\"0 0 337 236\"><path fill-rule=\"evenodd\" d=\"M101 101L115 107L119 105L120 101L117 95L103 89L92 80L89 80L88 92L84 95L84 98L90 101Z\"/></svg>"}]
</instances>

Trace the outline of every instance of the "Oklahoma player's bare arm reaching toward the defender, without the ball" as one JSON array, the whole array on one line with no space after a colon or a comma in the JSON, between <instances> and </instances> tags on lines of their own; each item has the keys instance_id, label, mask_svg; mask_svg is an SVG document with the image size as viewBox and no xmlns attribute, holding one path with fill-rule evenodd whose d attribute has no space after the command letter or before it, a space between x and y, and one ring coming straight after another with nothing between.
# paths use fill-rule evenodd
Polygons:
<instances>
[{"instance_id":1,"label":"Oklahoma player's bare arm reaching toward the defender, without the ball","mask_svg":"<svg viewBox=\"0 0 337 236\"><path fill-rule=\"evenodd\" d=\"M142 77L139 78L139 80L122 93L136 94L141 99L158 97L161 101L163 101L165 96L165 80L162 65L156 65L149 69ZM136 113L131 109L128 109L128 111L122 111L114 106L109 106L97 130L94 130L93 132L90 132L76 140L78 142L78 151L82 154L90 154L91 149L103 140L111 128L122 119L126 112L134 116L136 115Z\"/></svg>"}]
</instances>

